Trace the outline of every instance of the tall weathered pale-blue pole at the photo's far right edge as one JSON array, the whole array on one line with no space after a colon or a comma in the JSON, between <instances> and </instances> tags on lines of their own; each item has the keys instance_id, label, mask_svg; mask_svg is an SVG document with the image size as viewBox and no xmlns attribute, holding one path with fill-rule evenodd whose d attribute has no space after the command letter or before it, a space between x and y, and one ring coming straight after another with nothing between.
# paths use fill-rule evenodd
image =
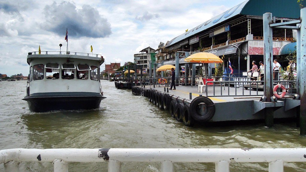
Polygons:
<instances>
[{"instance_id":1,"label":"tall weathered pale-blue pole at the photo's far right edge","mask_svg":"<svg viewBox=\"0 0 306 172\"><path fill-rule=\"evenodd\" d=\"M301 9L300 65L306 64L306 8ZM306 135L306 69L300 68L300 135Z\"/></svg>"}]
</instances>

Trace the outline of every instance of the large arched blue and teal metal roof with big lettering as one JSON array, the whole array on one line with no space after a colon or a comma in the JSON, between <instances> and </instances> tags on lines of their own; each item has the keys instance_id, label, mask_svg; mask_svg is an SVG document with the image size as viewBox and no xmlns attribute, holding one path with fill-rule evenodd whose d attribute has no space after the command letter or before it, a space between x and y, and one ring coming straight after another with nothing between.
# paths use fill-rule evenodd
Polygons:
<instances>
[{"instance_id":1,"label":"large arched blue and teal metal roof with big lettering","mask_svg":"<svg viewBox=\"0 0 306 172\"><path fill-rule=\"evenodd\" d=\"M166 45L166 47L170 47L186 38L195 36L196 34L215 26L222 21L229 20L230 18L239 14L262 17L263 14L267 12L272 13L272 15L275 17L299 18L300 6L296 0L247 0L198 25L188 32L175 37Z\"/></svg>"}]
</instances>

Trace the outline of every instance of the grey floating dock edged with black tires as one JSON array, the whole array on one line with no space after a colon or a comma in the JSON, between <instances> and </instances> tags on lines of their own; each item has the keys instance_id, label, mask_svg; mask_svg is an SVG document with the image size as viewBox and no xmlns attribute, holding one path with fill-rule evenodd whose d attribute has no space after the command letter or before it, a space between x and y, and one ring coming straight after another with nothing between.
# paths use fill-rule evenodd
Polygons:
<instances>
[{"instance_id":1,"label":"grey floating dock edged with black tires","mask_svg":"<svg viewBox=\"0 0 306 172\"><path fill-rule=\"evenodd\" d=\"M222 89L224 92L236 92L237 95L246 91L244 87L238 89L224 87ZM207 92L214 91L219 95L222 89L207 87ZM297 117L297 107L300 105L300 100L296 99L296 96L286 95L285 98L266 102L264 96L259 96L263 95L263 91L253 88L248 92L254 93L254 96L251 94L248 96L206 97L203 96L206 95L206 92L198 93L198 86L177 86L176 90L170 90L168 87L132 87L134 95L148 97L151 103L154 103L161 110L169 110L173 118L183 122L186 126L192 126L194 122L267 121L265 110L274 112L273 119Z\"/></svg>"}]
</instances>

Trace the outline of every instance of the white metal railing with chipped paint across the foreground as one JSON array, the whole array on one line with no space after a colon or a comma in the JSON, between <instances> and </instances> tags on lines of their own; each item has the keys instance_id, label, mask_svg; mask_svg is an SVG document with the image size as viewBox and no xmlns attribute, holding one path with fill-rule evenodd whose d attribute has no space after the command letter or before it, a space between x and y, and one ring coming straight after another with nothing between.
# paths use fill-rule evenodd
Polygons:
<instances>
[{"instance_id":1,"label":"white metal railing with chipped paint across the foreground","mask_svg":"<svg viewBox=\"0 0 306 172\"><path fill-rule=\"evenodd\" d=\"M283 172L284 162L306 162L306 148L266 149L6 149L0 163L6 172L19 163L53 162L54 172L68 172L69 162L108 162L109 172L121 171L121 162L161 162L161 172L173 172L173 163L215 163L216 172L229 172L230 163L269 163L269 172Z\"/></svg>"}]
</instances>

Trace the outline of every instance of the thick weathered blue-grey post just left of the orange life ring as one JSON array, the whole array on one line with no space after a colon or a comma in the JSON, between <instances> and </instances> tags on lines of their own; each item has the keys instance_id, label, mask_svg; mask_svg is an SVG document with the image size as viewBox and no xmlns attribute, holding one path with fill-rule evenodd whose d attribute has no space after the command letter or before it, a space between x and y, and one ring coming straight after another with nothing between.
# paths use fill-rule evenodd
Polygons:
<instances>
[{"instance_id":1,"label":"thick weathered blue-grey post just left of the orange life ring","mask_svg":"<svg viewBox=\"0 0 306 172\"><path fill-rule=\"evenodd\" d=\"M272 28L272 13L263 14L263 51L264 51L264 64L265 64L265 77L264 77L264 95L267 101L271 102L273 96L273 78L272 78L272 63L273 63L273 34ZM274 110L271 108L265 109L265 126L273 126Z\"/></svg>"}]
</instances>

